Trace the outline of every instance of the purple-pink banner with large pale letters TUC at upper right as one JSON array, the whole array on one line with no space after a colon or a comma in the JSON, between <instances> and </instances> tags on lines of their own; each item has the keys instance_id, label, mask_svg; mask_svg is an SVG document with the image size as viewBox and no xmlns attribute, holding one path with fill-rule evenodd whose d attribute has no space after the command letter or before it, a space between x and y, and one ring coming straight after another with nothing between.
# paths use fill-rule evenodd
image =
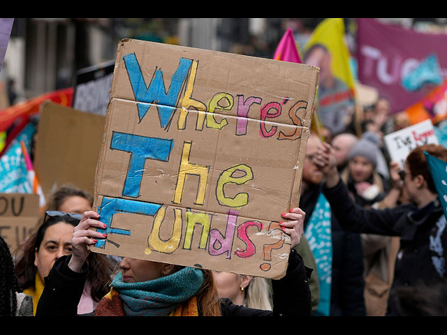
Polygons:
<instances>
[{"instance_id":1,"label":"purple-pink banner with large pale letters TUC at upper right","mask_svg":"<svg viewBox=\"0 0 447 335\"><path fill-rule=\"evenodd\" d=\"M441 80L447 73L447 34L425 34L375 19L358 19L358 80L375 87L400 112L433 89L424 84L409 89L405 80L423 61L436 57Z\"/></svg>"}]
</instances>

